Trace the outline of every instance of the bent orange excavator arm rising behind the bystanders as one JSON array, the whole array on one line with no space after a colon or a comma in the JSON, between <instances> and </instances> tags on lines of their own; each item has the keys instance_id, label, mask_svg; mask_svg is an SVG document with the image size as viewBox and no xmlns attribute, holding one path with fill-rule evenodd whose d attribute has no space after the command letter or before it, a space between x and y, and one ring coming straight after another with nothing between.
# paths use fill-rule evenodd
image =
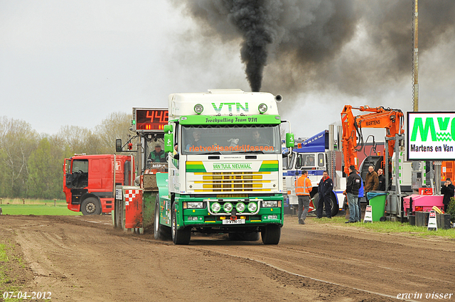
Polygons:
<instances>
[{"instance_id":1,"label":"bent orange excavator arm rising behind the bystanders","mask_svg":"<svg viewBox=\"0 0 455 302\"><path fill-rule=\"evenodd\" d=\"M354 116L352 110L357 109L368 114ZM349 174L349 166L355 166L358 170L357 152L363 149L362 128L382 128L386 130L387 137L395 137L395 134L403 134L405 114L400 109L390 109L384 107L370 108L368 106L352 107L346 105L341 112L341 123L343 124L343 155L344 172ZM389 158L385 158L381 163L385 168L385 163L392 158L395 141L386 140Z\"/></svg>"}]
</instances>

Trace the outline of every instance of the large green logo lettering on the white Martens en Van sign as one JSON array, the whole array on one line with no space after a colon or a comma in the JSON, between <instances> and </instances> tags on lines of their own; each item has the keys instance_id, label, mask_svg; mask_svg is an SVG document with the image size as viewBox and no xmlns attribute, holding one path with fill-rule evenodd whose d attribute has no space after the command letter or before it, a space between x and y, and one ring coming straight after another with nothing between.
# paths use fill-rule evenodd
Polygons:
<instances>
[{"instance_id":1,"label":"large green logo lettering on the white Martens en Van sign","mask_svg":"<svg viewBox=\"0 0 455 302\"><path fill-rule=\"evenodd\" d=\"M450 129L447 129L449 124ZM420 134L420 141L427 141L428 134L432 141L455 141L455 118L450 120L450 117L437 117L437 126L439 132L436 131L434 117L427 117L425 122L422 117L416 117L412 126L411 141L416 141L417 134Z\"/></svg>"}]
</instances>

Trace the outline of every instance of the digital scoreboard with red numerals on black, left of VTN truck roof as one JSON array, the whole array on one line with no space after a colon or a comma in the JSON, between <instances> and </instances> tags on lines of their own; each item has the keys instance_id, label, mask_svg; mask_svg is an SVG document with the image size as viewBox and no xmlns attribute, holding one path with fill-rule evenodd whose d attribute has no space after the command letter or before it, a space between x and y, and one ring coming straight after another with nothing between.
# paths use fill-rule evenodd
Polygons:
<instances>
[{"instance_id":1,"label":"digital scoreboard with red numerals on black, left of VTN truck roof","mask_svg":"<svg viewBox=\"0 0 455 302\"><path fill-rule=\"evenodd\" d=\"M133 108L134 130L162 131L168 120L168 109Z\"/></svg>"}]
</instances>

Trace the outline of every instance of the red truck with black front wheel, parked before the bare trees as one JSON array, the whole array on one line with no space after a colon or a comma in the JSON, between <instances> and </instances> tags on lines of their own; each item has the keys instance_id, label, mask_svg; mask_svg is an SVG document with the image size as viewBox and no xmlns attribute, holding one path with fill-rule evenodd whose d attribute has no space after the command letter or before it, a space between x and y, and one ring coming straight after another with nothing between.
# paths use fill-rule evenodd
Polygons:
<instances>
[{"instance_id":1,"label":"red truck with black front wheel, parked before the bare trees","mask_svg":"<svg viewBox=\"0 0 455 302\"><path fill-rule=\"evenodd\" d=\"M83 215L100 215L114 209L116 185L133 185L134 157L76 154L65 158L63 173L68 209Z\"/></svg>"}]
</instances>

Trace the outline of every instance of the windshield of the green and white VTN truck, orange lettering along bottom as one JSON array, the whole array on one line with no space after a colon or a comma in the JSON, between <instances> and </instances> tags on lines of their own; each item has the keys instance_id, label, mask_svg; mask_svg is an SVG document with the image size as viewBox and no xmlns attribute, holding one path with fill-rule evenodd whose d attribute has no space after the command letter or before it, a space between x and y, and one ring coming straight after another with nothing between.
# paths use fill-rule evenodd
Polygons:
<instances>
[{"instance_id":1,"label":"windshield of the green and white VTN truck, orange lettering along bottom","mask_svg":"<svg viewBox=\"0 0 455 302\"><path fill-rule=\"evenodd\" d=\"M279 125L182 126L182 154L281 153Z\"/></svg>"}]
</instances>

